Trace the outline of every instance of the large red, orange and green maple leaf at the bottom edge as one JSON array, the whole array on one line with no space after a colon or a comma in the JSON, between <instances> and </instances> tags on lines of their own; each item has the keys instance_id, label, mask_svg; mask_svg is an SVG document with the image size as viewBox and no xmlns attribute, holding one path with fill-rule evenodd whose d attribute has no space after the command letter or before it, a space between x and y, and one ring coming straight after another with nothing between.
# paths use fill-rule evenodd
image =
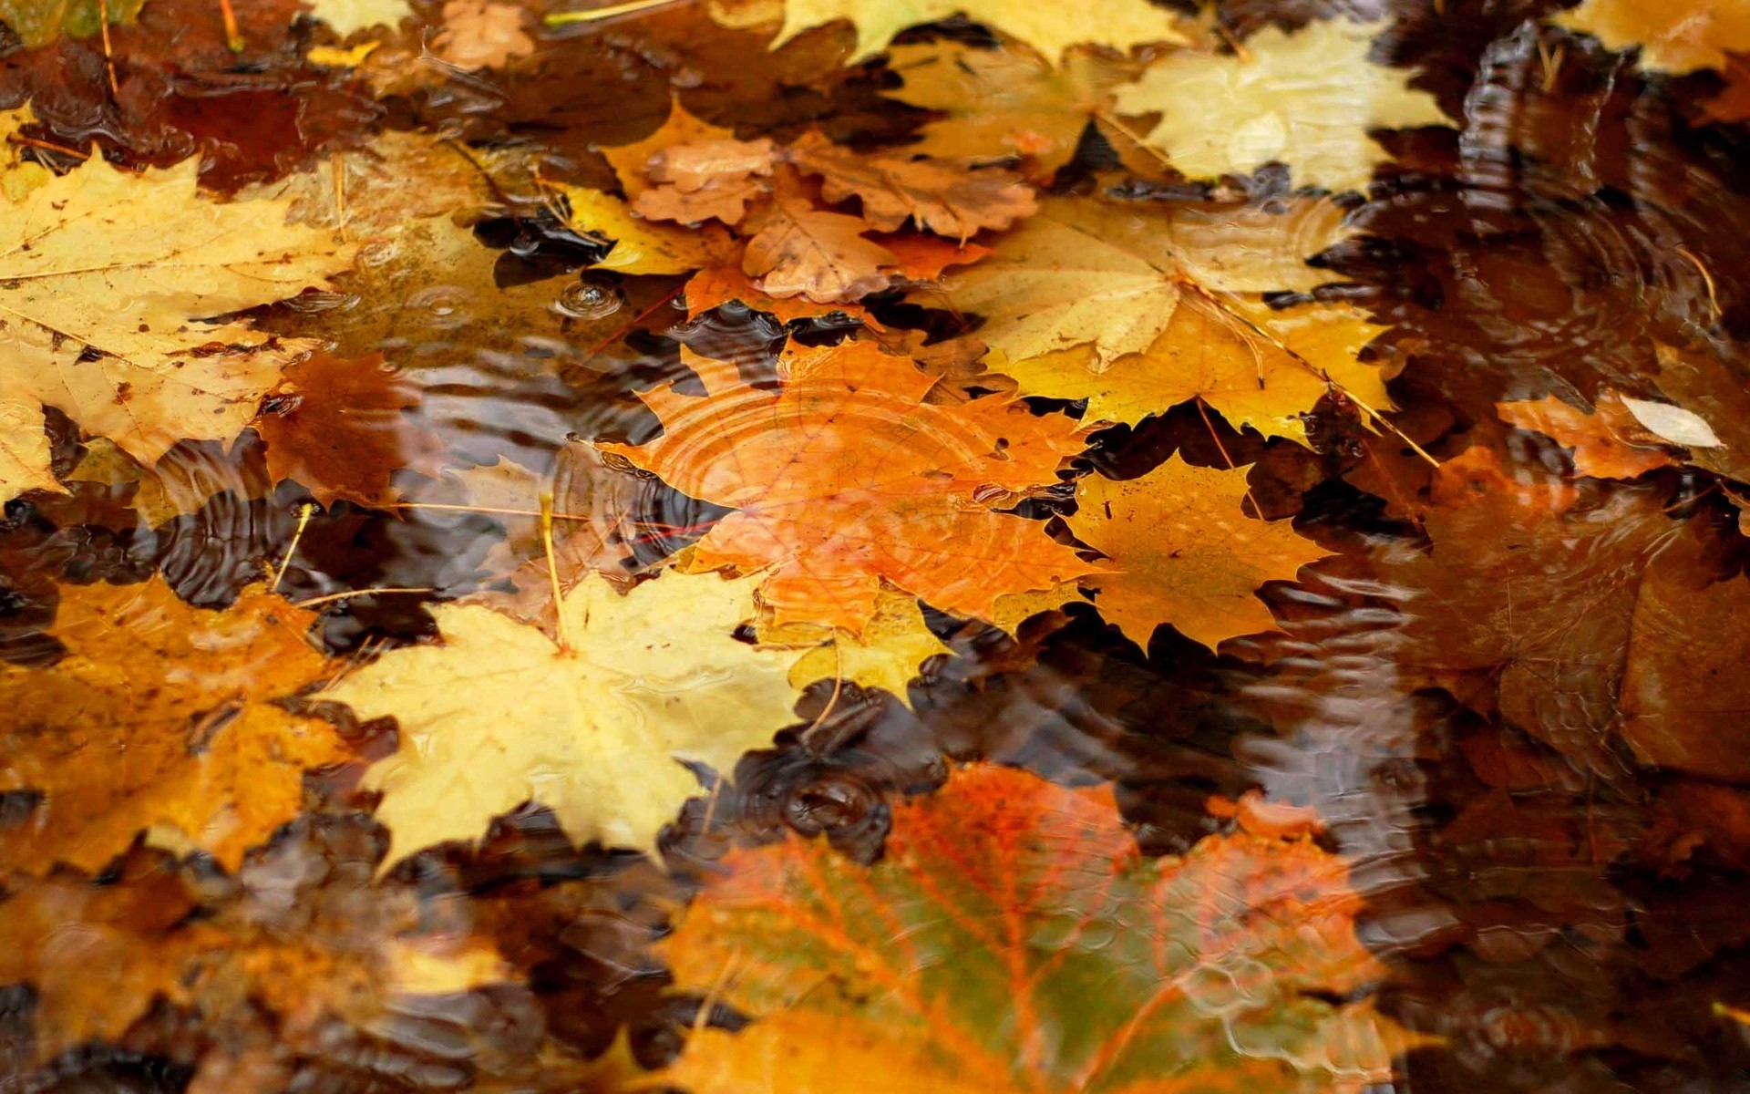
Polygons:
<instances>
[{"instance_id":1,"label":"large red, orange and green maple leaf at the bottom edge","mask_svg":"<svg viewBox=\"0 0 1750 1094\"><path fill-rule=\"evenodd\" d=\"M1426 1043L1356 999L1384 970L1340 858L1146 859L1110 786L961 768L872 868L796 837L721 865L658 947L752 1017L660 1073L698 1094L1360 1089Z\"/></svg>"}]
</instances>

